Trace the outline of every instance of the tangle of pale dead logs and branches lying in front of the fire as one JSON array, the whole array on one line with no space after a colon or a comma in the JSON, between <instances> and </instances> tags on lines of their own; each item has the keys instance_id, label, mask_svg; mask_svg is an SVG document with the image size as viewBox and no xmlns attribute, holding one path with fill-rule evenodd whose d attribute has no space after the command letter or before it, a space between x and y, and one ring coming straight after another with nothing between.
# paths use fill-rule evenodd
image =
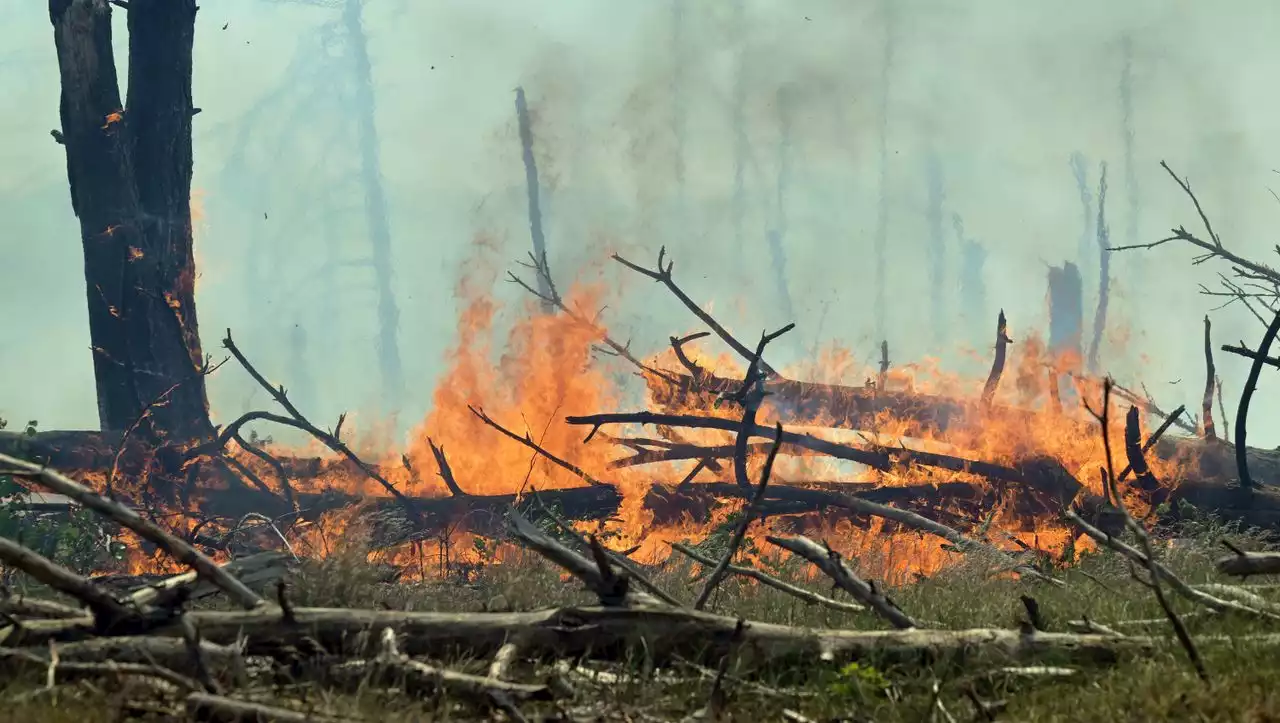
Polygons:
<instances>
[{"instance_id":1,"label":"tangle of pale dead logs and branches lying in front of the fire","mask_svg":"<svg viewBox=\"0 0 1280 723\"><path fill-rule=\"evenodd\" d=\"M320 685L335 692L394 690L397 695L413 697L444 695L474 713L500 710L513 720L524 720L522 708L540 701L554 704L575 695L573 682L558 674L566 662L621 662L636 650L644 650L659 669L673 662L718 668L718 687L730 658L735 660L736 679L744 679L781 665L838 665L867 659L901 667L937 665L946 660L972 664L983 658L1004 664L1051 660L1056 665L1106 665L1149 654L1161 645L1157 637L1096 630L1102 626L1087 619L1073 623L1085 628L1084 632L1044 632L1029 598L1024 598L1030 600L1028 621L1018 630L933 628L900 608L882 589L860 578L838 553L804 536L771 536L768 543L812 563L856 603L806 591L799 595L810 603L873 612L890 630L817 630L704 612L703 601L727 575L751 576L795 594L796 589L788 584L731 564L767 497L772 458L781 438L781 434L774 436L771 463L753 485L751 513L742 517L730 548L714 566L710 559L701 560L713 572L692 605L663 592L643 573L617 560L596 537L579 537L580 549L573 549L516 509L508 509L504 534L563 568L596 598L595 605L526 613L294 607L283 582L275 585L271 599L261 591L268 578L259 577L257 590L250 589L248 577L264 569L261 560L253 564L242 560L238 567L215 566L182 540L155 534L136 513L83 485L52 470L0 456L0 472L73 497L115 523L152 536L161 550L191 567L187 573L124 591L86 580L15 543L0 546L0 559L6 567L31 575L79 604L77 608L45 600L5 600L0 668L9 679L22 676L42 679L45 688L77 681L111 682L128 691L125 706L131 711L183 714L201 720L353 720L332 714L323 704L317 708L314 701L292 700L287 695L282 699L282 691L289 690L282 688L283 681L294 686ZM1140 459L1134 462L1134 467L1143 468ZM1115 479L1108 477L1107 482L1114 490ZM1185 584L1156 560L1146 530L1124 507L1112 509L1134 532L1139 546L1097 530L1078 512L1068 516L1085 535L1146 568L1148 585L1157 595L1167 586L1210 610L1280 619L1280 608L1249 599L1243 589L1220 586L1233 595L1213 595L1203 586ZM983 548L980 543L968 544L970 552ZM1274 555L1244 552L1225 558L1220 568L1238 575L1277 569ZM1047 576L1039 580L1042 585L1053 582ZM189 600L201 585L225 595L241 609L191 609ZM1160 600L1175 627L1180 624L1162 595ZM1258 644L1274 644L1271 637L1262 636ZM1198 660L1197 645L1221 642L1234 645L1239 640L1202 637L1192 642L1188 637L1184 645L1192 659ZM458 659L490 664L485 674L479 674L435 663ZM714 713L708 714L714 717Z\"/></svg>"}]
</instances>

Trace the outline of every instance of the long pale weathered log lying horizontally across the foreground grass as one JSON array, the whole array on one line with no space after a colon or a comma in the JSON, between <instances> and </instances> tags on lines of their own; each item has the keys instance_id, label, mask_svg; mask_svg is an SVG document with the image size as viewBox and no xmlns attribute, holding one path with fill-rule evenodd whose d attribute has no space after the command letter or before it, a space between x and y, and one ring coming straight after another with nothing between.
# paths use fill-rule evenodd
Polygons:
<instances>
[{"instance_id":1,"label":"long pale weathered log lying horizontally across the foreground grass","mask_svg":"<svg viewBox=\"0 0 1280 723\"><path fill-rule=\"evenodd\" d=\"M732 648L740 664L785 667L813 660L861 659L918 664L920 660L992 655L1012 660L1114 662L1124 653L1151 650L1146 637L1024 633L1016 630L858 631L790 627L749 622L735 644L737 618L667 607L577 607L527 613L404 613L328 608L279 608L255 612L201 610L186 616L201 636L232 645L243 637L248 655L275 655L285 646L319 642L329 653L370 656L378 653L381 630L390 628L399 650L436 659L490 658L509 640L521 655L557 660L590 654L625 659L643 649L662 664L678 656L716 665ZM90 637L92 621L31 621L0 631L4 645L28 648ZM152 635L180 637L178 624ZM306 639L311 640L307 641Z\"/></svg>"}]
</instances>

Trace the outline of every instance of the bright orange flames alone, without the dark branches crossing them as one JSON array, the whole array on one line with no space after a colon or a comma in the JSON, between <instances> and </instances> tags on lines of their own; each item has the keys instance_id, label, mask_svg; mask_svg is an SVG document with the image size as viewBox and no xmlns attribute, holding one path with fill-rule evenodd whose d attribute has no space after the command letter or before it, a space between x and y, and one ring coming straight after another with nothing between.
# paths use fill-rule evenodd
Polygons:
<instances>
[{"instance_id":1,"label":"bright orange flames alone, without the dark branches crossing them","mask_svg":"<svg viewBox=\"0 0 1280 723\"><path fill-rule=\"evenodd\" d=\"M625 407L623 389L616 386L611 376L602 371L602 365L593 360L593 346L602 339L604 330L563 314L535 312L517 320L509 330L500 331L495 322L495 302L484 293L476 293L479 284L463 284L463 289L467 296L460 315L457 340L449 349L448 371L436 385L431 412L413 430L403 453L388 450L378 459L384 476L401 493L434 499L453 495L440 473L442 458L447 461L457 488L472 498L516 495L521 499L535 489L571 490L588 485L584 475L566 470L535 453L529 444L508 439L488 426L471 411L471 406L476 406L515 435L526 436L561 459L571 461L585 476L614 485L621 495L616 509L604 504L594 520L575 520L573 526L580 532L599 535L614 549L630 550L632 559L655 562L671 554L671 541L700 543L726 532L736 520L735 513L741 511L741 495L708 493L713 488L698 485L733 482L733 463L728 452L735 441L732 431L620 429L613 433L643 440L620 444L617 438L600 434L582 444L586 430L564 424L566 416ZM566 305L570 308L598 308L602 298L599 287L576 287L566 294ZM534 311L531 305L530 311ZM662 376L644 375L649 408L737 421L741 409L724 403L724 392L736 388L733 385L745 372L744 365L727 354L709 356L694 344L684 346L682 352L686 354L684 361L669 349L644 361L663 372ZM908 497L919 493L913 499L925 500L916 507L922 513L961 530L986 525L979 534L992 544L1011 550L1061 553L1075 541L1074 535L1057 521L1055 505L1068 502L1070 491L1080 485L1094 495L1103 494L1098 470L1106 461L1097 426L1051 403L1052 375L1048 369L1056 362L1037 339L1020 339L1020 344L1010 349L1009 363L1009 379L997 395L997 406L984 411L978 403L984 375L964 379L928 363L909 365L886 374L883 389L870 389L868 380L878 380L879 370L855 363L847 349L831 348L806 362L806 369L783 372L788 377L813 379L813 384L771 383L773 394L767 397L756 424L781 421L788 431L846 445L909 447L1030 470L1037 480L1050 480L1043 482L1047 485L1043 489L1037 488L1033 498L1019 497L1018 490L1009 485L993 485L972 473L902 465L874 471L795 447L783 448L771 484L876 493L890 500L906 499L893 498L890 494L892 490L902 490L900 494ZM700 384L692 384L689 365L704 375ZM672 384L664 377L682 381ZM817 398L815 390L832 397ZM858 429L842 429L850 425L850 420L856 420ZM1120 449L1119 441L1114 439L1112 448ZM708 459L686 454L675 461L612 465L637 450L662 457L668 454L663 449L681 445L718 450ZM279 448L271 452L287 453ZM767 444L753 444L749 449L748 473L753 481L759 479L765 452ZM274 480L273 470L257 457L234 448L230 453L261 480ZM1167 480L1176 479L1179 471L1175 463L1158 459L1152 461L1152 467L1157 477ZM698 476L689 480L695 468ZM669 488L682 480L686 481L684 490L687 494L682 493L685 497L677 503ZM415 532L404 528L403 520L388 522L390 517L385 511L389 505L378 503L385 502L385 489L352 466L338 463L333 456L325 456L319 473L302 476L294 480L293 486L300 495L337 490L367 498L371 504L335 509L319 521L291 525L292 520L282 520L275 527L260 521L247 525L241 521L237 539L247 540L256 535L256 543L271 545L284 535L300 554L324 557L335 554L343 541L357 537L374 539L374 543L380 536L396 540L410 537L410 543L379 549L370 555L371 559L397 564L411 576L438 575L442 564L449 568L481 562L500 563L504 559L503 548L486 541L500 535L498 503L502 500L485 507L477 500L460 499L448 509L431 508L436 511L430 518L435 528ZM947 498L938 493L961 488L973 494ZM933 493L929 493L931 489ZM1032 504L1029 499L1038 502ZM858 559L869 575L888 582L933 573L956 559L941 540L884 520L858 518L831 509L804 509L797 503L791 503L791 507L780 503L768 509L765 522L751 526L751 540L759 543L763 535L771 532L804 532L826 539L833 549ZM1135 512L1143 511L1138 508ZM197 513L198 502L197 509L187 511L187 522L179 526L186 525L188 532L193 531L198 525L195 522ZM401 526L398 531L393 530L396 525ZM201 531L206 537L225 537L236 526L236 521L221 521L206 523ZM1084 549L1083 543L1079 549ZM751 557L754 553L745 554ZM768 560L755 562L768 564ZM161 571L164 566L137 549L125 564L131 572Z\"/></svg>"}]
</instances>

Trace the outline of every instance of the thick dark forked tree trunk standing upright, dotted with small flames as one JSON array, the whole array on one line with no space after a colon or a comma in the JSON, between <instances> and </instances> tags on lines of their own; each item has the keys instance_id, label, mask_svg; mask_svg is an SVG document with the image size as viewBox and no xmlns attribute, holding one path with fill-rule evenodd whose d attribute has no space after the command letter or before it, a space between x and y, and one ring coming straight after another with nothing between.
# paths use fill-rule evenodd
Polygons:
<instances>
[{"instance_id":1,"label":"thick dark forked tree trunk standing upright, dotted with small flames","mask_svg":"<svg viewBox=\"0 0 1280 723\"><path fill-rule=\"evenodd\" d=\"M51 0L61 134L81 223L99 422L212 433L196 324L191 233L195 0L133 0L129 95L106 0Z\"/></svg>"}]
</instances>

